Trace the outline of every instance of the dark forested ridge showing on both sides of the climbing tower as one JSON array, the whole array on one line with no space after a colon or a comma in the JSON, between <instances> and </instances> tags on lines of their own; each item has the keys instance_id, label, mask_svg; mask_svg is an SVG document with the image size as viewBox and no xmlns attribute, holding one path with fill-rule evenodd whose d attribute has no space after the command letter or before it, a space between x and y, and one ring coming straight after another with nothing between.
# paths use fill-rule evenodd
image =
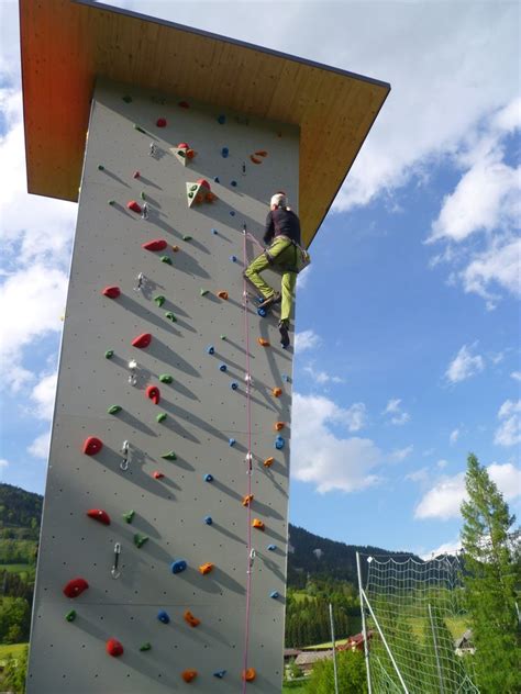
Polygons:
<instances>
[{"instance_id":1,"label":"dark forested ridge showing on both sides of the climbing tower","mask_svg":"<svg viewBox=\"0 0 521 694\"><path fill-rule=\"evenodd\" d=\"M3 537L37 539L43 497L19 486L0 483L0 529ZM313 535L289 526L288 585L304 587L308 575L328 580L357 582L356 552L384 555L395 559L413 557L378 547L357 547ZM419 557L414 557L421 561Z\"/></svg>"}]
</instances>

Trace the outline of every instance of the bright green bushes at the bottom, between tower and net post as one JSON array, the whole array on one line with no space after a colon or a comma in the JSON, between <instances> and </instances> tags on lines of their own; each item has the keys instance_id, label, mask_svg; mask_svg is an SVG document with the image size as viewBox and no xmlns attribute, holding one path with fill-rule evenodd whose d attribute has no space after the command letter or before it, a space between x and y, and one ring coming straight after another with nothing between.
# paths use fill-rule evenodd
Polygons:
<instances>
[{"instance_id":1,"label":"bright green bushes at the bottom, between tower and net post","mask_svg":"<svg viewBox=\"0 0 521 694\"><path fill-rule=\"evenodd\" d=\"M367 694L367 675L363 653L358 651L337 652L336 669L340 692ZM309 694L331 694L334 692L333 660L321 660L314 665L306 691Z\"/></svg>"}]
</instances>

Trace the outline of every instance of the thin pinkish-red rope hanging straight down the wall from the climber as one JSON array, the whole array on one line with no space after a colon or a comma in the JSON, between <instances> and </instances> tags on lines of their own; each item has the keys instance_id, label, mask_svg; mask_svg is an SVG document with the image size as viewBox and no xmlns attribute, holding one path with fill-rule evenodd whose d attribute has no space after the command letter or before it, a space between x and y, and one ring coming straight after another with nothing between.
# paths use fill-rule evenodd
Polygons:
<instances>
[{"instance_id":1,"label":"thin pinkish-red rope hanging straight down the wall from the climber","mask_svg":"<svg viewBox=\"0 0 521 694\"><path fill-rule=\"evenodd\" d=\"M251 236L246 231L246 225L243 227L243 260L244 268L247 267L247 238ZM252 237L253 238L253 237ZM255 239L256 243L258 243ZM252 494L252 377L250 372L250 325L248 325L248 292L247 280L244 278L243 290L243 305L244 305L244 336L246 344L246 425L247 425L247 494ZM252 504L247 505L247 574L246 574L246 624L244 629L244 667L243 670L247 670L247 658L250 647L250 612L251 612L251 597L252 597ZM243 679L243 694L246 692L247 681Z\"/></svg>"}]
</instances>

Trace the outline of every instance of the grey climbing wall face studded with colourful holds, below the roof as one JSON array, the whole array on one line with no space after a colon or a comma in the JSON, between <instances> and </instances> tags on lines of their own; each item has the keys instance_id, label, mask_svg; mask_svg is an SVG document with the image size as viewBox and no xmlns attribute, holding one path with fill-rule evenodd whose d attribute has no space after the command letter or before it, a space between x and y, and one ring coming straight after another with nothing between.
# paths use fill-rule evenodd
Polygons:
<instances>
[{"instance_id":1,"label":"grey climbing wall face studded with colourful holds, below the roof","mask_svg":"<svg viewBox=\"0 0 521 694\"><path fill-rule=\"evenodd\" d=\"M280 692L292 348L242 272L273 192L298 210L298 146L96 87L29 694Z\"/></svg>"}]
</instances>

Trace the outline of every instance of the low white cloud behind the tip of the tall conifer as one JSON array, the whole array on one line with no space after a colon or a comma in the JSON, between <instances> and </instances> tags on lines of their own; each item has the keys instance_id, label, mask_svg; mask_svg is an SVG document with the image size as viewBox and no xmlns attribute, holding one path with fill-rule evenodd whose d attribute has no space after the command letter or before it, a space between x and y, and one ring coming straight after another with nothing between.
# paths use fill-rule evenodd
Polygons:
<instances>
[{"instance_id":1,"label":"low white cloud behind the tip of the tall conifer","mask_svg":"<svg viewBox=\"0 0 521 694\"><path fill-rule=\"evenodd\" d=\"M521 495L521 470L511 462L505 464L492 463L487 468L490 479L497 484L506 501ZM415 507L415 518L448 518L459 517L459 506L467 499L465 490L465 472L454 477L442 478L429 490Z\"/></svg>"}]
</instances>

